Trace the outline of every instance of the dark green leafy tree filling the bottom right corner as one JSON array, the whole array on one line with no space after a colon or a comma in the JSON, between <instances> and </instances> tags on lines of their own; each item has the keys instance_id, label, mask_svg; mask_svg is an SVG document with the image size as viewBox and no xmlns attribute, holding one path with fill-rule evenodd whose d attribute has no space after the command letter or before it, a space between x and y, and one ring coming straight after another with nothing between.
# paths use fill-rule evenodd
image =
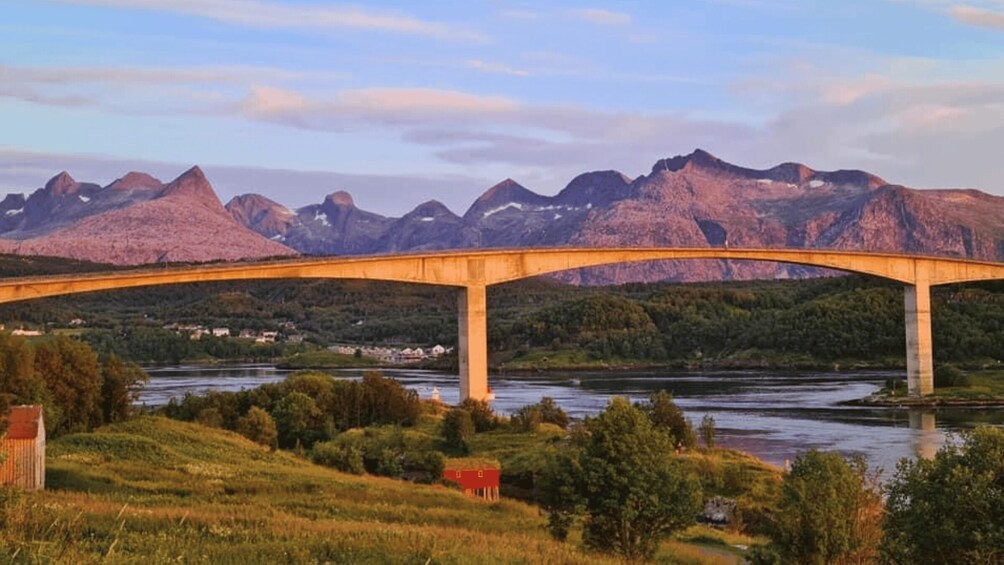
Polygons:
<instances>
[{"instance_id":1,"label":"dark green leafy tree filling the bottom right corner","mask_svg":"<svg viewBox=\"0 0 1004 565\"><path fill-rule=\"evenodd\" d=\"M933 460L903 460L888 487L893 563L1004 562L1004 430L981 427Z\"/></svg>"}]
</instances>

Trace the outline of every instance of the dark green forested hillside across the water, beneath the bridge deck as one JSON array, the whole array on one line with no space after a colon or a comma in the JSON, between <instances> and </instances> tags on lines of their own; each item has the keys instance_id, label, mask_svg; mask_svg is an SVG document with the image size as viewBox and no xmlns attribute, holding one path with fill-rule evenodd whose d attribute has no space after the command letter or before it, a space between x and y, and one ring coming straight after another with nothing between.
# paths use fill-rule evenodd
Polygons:
<instances>
[{"instance_id":1,"label":"dark green forested hillside across the water, beneath the bridge deck","mask_svg":"<svg viewBox=\"0 0 1004 565\"><path fill-rule=\"evenodd\" d=\"M39 261L28 259L26 261ZM52 263L51 265L49 263ZM90 270L48 260L0 262L4 274ZM489 288L494 365L900 366L903 288L861 276L810 280L577 287L533 279ZM456 294L428 285L330 280L150 287L0 305L8 328L77 333L135 361L276 358L310 346L447 346L457 341ZM188 339L171 324L274 330L305 345ZM995 365L1004 343L1004 283L936 287L935 357Z\"/></svg>"}]
</instances>

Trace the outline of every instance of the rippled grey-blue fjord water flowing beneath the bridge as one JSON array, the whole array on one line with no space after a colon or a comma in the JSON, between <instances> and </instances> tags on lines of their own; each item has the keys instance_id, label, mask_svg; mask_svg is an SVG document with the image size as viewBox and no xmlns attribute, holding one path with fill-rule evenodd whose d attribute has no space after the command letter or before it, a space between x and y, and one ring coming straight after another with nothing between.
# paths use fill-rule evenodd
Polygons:
<instances>
[{"instance_id":1,"label":"rippled grey-blue fjord water flowing beneath the bridge","mask_svg":"<svg viewBox=\"0 0 1004 565\"><path fill-rule=\"evenodd\" d=\"M140 402L161 405L185 392L240 390L285 378L289 371L273 365L148 367L150 382ZM448 404L459 401L457 375L414 369L385 369L428 398L434 387ZM357 378L362 369L333 371ZM860 454L872 469L888 477L896 463L918 453L933 454L948 434L977 423L1004 422L1004 409L905 408L844 405L868 395L899 372L604 371L492 375L496 410L511 413L520 406L551 396L573 417L600 411L610 396L643 400L666 389L695 423L705 414L715 418L718 443L783 465L809 449Z\"/></svg>"}]
</instances>

